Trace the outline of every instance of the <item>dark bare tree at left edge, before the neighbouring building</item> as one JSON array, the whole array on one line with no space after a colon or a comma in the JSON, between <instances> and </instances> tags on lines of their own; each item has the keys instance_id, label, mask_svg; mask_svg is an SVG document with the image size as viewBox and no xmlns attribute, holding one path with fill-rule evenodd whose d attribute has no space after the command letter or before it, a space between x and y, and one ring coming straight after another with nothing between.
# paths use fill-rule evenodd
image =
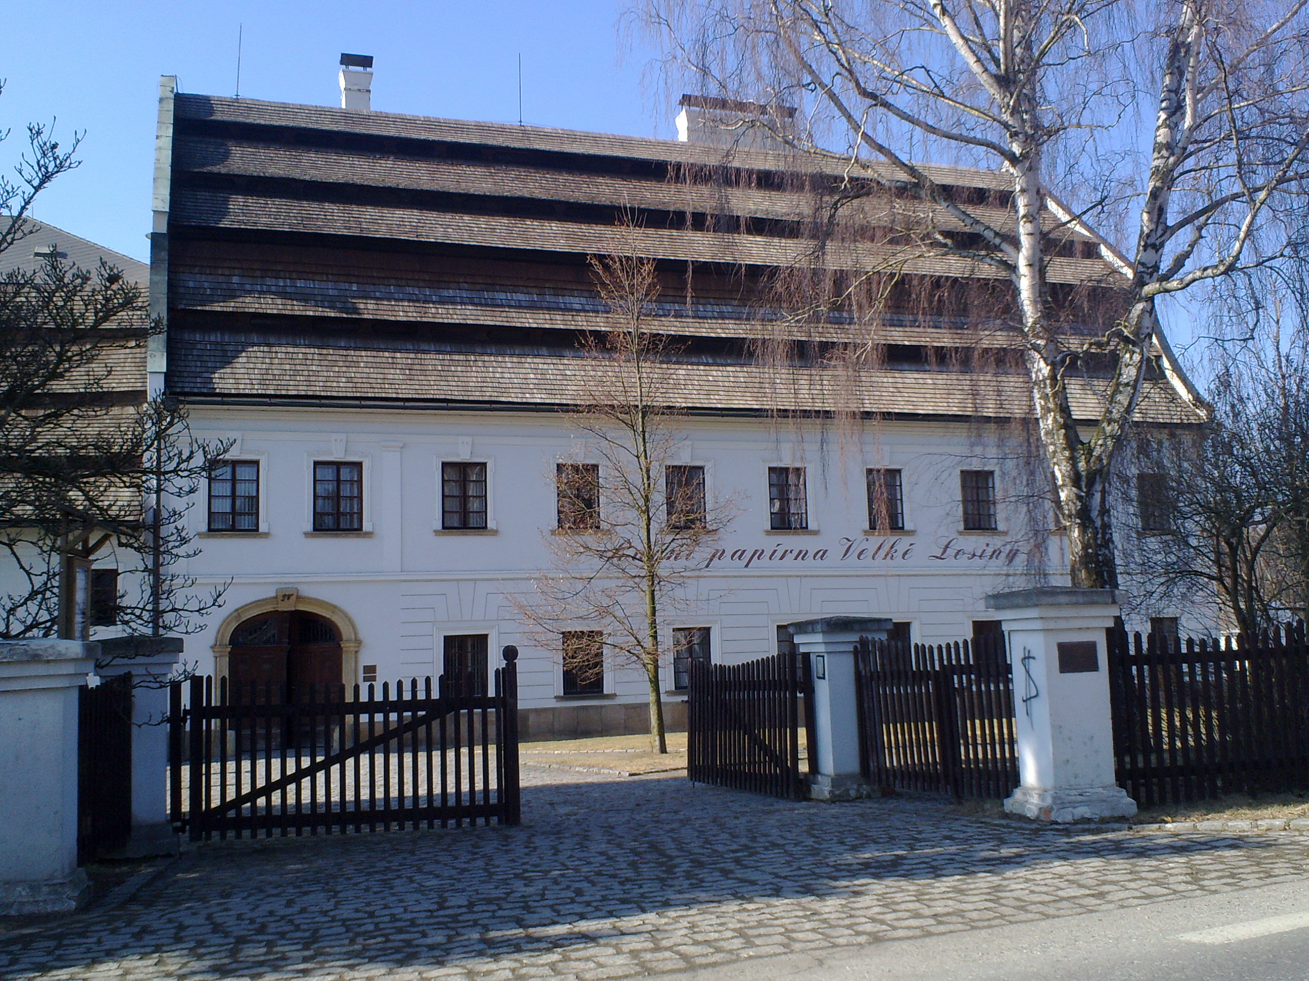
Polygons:
<instances>
[{"instance_id":1,"label":"dark bare tree at left edge, before the neighbouring building","mask_svg":"<svg viewBox=\"0 0 1309 981\"><path fill-rule=\"evenodd\" d=\"M0 175L0 254L39 230L33 201L77 166L77 143L27 127L16 179ZM119 377L157 330L140 286L105 263L51 254L0 276L0 637L84 629L77 569L102 548L136 579L113 598L130 633L188 632L217 604L221 590L198 595L175 565L192 555L186 500L223 447L195 443L181 407Z\"/></svg>"}]
</instances>

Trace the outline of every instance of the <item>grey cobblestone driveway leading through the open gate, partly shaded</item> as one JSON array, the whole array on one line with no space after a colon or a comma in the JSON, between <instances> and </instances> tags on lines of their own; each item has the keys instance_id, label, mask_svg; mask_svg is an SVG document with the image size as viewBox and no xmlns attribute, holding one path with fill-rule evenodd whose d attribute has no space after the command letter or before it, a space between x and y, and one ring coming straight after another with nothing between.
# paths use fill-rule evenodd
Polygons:
<instances>
[{"instance_id":1,"label":"grey cobblestone driveway leading through the open gate, partly shaded","mask_svg":"<svg viewBox=\"0 0 1309 981\"><path fill-rule=\"evenodd\" d=\"M190 850L4 978L607 978L1309 878L1309 836L1068 833L526 768L521 828Z\"/></svg>"}]
</instances>

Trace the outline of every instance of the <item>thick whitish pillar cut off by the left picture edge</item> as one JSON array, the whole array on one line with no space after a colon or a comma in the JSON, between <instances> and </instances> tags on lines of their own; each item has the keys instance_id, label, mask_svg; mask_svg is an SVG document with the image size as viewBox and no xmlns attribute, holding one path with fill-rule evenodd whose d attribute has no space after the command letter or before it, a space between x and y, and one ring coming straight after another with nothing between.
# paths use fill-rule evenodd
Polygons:
<instances>
[{"instance_id":1,"label":"thick whitish pillar cut off by the left picture edge","mask_svg":"<svg viewBox=\"0 0 1309 981\"><path fill-rule=\"evenodd\" d=\"M62 913L90 895L77 867L77 689L84 641L0 641L0 916Z\"/></svg>"}]
</instances>

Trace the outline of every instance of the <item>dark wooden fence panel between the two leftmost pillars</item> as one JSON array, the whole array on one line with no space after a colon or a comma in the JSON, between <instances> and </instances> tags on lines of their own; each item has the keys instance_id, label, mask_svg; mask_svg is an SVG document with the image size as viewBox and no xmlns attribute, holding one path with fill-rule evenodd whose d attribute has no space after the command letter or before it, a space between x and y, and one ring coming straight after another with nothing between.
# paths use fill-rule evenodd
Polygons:
<instances>
[{"instance_id":1,"label":"dark wooden fence panel between the two leftmost pillars","mask_svg":"<svg viewBox=\"0 0 1309 981\"><path fill-rule=\"evenodd\" d=\"M132 676L77 693L77 862L132 836Z\"/></svg>"}]
</instances>

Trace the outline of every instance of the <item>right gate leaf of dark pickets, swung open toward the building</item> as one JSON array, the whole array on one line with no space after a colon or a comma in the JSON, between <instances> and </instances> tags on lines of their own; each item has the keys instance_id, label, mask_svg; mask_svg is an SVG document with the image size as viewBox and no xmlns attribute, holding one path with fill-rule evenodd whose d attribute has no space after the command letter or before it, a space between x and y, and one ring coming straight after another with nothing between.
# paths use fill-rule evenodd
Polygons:
<instances>
[{"instance_id":1,"label":"right gate leaf of dark pickets, swung open toward the building","mask_svg":"<svg viewBox=\"0 0 1309 981\"><path fill-rule=\"evenodd\" d=\"M796 800L809 797L800 727L810 732L809 659L793 651L744 664L692 659L687 696L687 777ZM813 766L809 766L813 770Z\"/></svg>"}]
</instances>

